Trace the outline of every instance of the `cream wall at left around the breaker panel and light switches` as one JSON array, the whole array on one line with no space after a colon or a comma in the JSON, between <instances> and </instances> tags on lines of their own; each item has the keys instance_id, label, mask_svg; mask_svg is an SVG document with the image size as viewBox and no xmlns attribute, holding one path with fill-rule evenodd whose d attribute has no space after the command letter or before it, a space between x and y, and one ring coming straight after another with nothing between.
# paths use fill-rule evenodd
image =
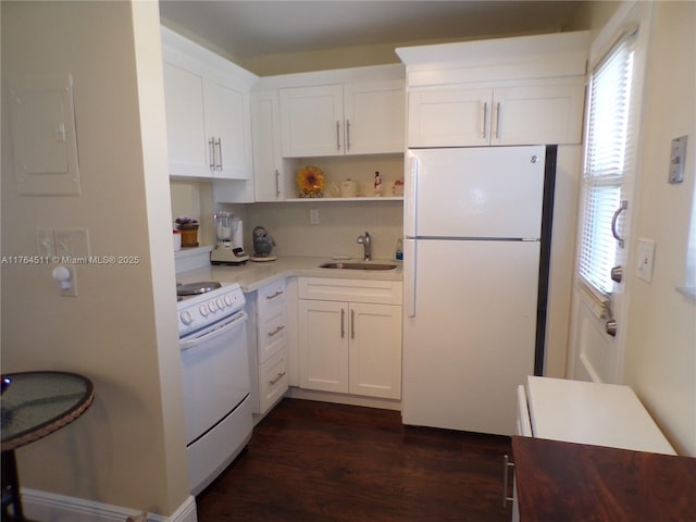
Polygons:
<instances>
[{"instance_id":1,"label":"cream wall at left around the breaker panel and light switches","mask_svg":"<svg viewBox=\"0 0 696 522\"><path fill-rule=\"evenodd\" d=\"M80 419L17 451L22 485L171 514L188 475L157 3L2 2L3 82L54 73L73 76L82 195L17 195L3 88L2 254L35 254L37 227L79 227L92 254L140 261L78 266L76 298L51 265L3 266L3 373L96 388Z\"/></svg>"}]
</instances>

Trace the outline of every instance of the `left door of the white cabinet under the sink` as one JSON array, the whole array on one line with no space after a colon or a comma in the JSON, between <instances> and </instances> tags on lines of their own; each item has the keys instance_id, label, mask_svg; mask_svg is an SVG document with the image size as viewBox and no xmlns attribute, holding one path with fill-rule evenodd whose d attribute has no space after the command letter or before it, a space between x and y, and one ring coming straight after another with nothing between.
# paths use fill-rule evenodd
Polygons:
<instances>
[{"instance_id":1,"label":"left door of the white cabinet under the sink","mask_svg":"<svg viewBox=\"0 0 696 522\"><path fill-rule=\"evenodd\" d=\"M348 306L298 301L300 387L348 393Z\"/></svg>"}]
</instances>

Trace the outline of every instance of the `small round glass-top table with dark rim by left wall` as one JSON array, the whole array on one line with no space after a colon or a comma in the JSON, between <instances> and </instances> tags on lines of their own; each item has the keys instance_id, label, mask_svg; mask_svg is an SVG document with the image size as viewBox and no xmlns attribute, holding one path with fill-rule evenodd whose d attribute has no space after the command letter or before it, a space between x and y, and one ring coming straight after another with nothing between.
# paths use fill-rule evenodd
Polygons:
<instances>
[{"instance_id":1,"label":"small round glass-top table with dark rim by left wall","mask_svg":"<svg viewBox=\"0 0 696 522\"><path fill-rule=\"evenodd\" d=\"M14 450L70 424L95 399L87 377L69 372L2 375L2 520L24 521Z\"/></svg>"}]
</instances>

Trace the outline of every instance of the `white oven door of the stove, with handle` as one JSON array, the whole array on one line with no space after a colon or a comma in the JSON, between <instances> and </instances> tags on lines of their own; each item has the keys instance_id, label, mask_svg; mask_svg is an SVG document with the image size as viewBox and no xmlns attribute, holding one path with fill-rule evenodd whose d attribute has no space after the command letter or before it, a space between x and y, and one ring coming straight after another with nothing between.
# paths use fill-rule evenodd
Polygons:
<instances>
[{"instance_id":1,"label":"white oven door of the stove, with handle","mask_svg":"<svg viewBox=\"0 0 696 522\"><path fill-rule=\"evenodd\" d=\"M187 446L249 395L246 321L239 312L179 340Z\"/></svg>"}]
</instances>

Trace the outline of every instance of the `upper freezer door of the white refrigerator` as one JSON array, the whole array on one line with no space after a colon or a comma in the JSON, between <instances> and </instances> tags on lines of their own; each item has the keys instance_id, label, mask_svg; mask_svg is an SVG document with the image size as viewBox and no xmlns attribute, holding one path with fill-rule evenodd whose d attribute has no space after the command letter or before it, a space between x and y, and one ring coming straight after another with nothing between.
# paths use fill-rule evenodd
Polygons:
<instances>
[{"instance_id":1,"label":"upper freezer door of the white refrigerator","mask_svg":"<svg viewBox=\"0 0 696 522\"><path fill-rule=\"evenodd\" d=\"M409 154L406 236L540 236L544 147L415 150Z\"/></svg>"}]
</instances>

